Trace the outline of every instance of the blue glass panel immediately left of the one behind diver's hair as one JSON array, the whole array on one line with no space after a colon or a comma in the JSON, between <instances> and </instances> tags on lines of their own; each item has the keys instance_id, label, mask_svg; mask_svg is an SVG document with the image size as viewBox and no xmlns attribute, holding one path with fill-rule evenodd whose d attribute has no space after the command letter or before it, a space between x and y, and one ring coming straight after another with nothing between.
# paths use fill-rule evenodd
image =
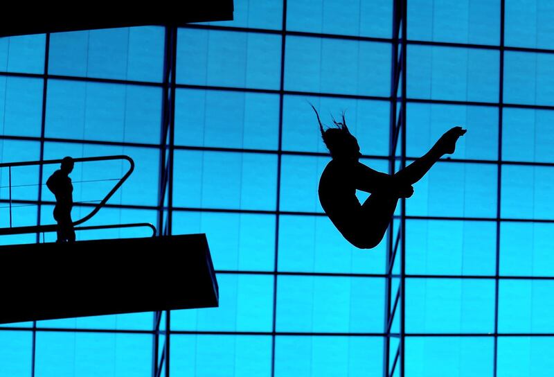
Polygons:
<instances>
[{"instance_id":1,"label":"blue glass panel immediately left of the one behind diver's hair","mask_svg":"<svg viewBox=\"0 0 554 377\"><path fill-rule=\"evenodd\" d=\"M278 119L275 94L179 89L175 144L275 150Z\"/></svg>"}]
</instances>

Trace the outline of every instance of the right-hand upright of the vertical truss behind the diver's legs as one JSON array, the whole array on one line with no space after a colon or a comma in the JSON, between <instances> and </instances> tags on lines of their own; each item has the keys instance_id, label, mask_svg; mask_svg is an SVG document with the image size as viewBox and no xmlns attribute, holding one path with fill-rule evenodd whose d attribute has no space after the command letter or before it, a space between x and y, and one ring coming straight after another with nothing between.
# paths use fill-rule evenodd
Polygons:
<instances>
[{"instance_id":1,"label":"right-hand upright of the vertical truss behind the diver's legs","mask_svg":"<svg viewBox=\"0 0 554 377\"><path fill-rule=\"evenodd\" d=\"M401 55L401 69L402 69L402 107L400 109L400 132L402 137L402 148L401 148L401 154L400 154L400 167L403 169L406 167L406 69L408 68L406 65L406 55L407 54L407 46L406 46L406 40L407 40L407 3L406 0L400 0L402 9L402 49L400 50ZM400 230L402 233L400 234L400 377L404 377L404 366L405 366L405 347L404 343L406 340L406 332L405 332L405 319L406 319L406 198L402 198L400 202L401 208L400 208Z\"/></svg>"}]
</instances>

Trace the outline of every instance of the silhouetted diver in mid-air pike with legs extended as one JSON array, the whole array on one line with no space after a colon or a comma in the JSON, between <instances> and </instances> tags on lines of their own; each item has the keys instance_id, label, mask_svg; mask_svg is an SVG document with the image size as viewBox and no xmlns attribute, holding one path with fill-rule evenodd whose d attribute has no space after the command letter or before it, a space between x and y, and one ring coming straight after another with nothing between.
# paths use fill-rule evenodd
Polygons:
<instances>
[{"instance_id":1,"label":"silhouetted diver in mid-air pike with legs extended","mask_svg":"<svg viewBox=\"0 0 554 377\"><path fill-rule=\"evenodd\" d=\"M312 108L316 112L323 142L332 157L319 179L321 207L344 238L360 249L379 245L398 199L410 198L413 194L411 185L418 182L440 157L454 153L456 141L466 132L461 127L452 128L427 154L394 175L388 175L359 162L358 141L350 134L344 114L340 123L332 119L336 128L323 130L319 114L313 105ZM356 190L371 193L364 204L359 203Z\"/></svg>"}]
</instances>

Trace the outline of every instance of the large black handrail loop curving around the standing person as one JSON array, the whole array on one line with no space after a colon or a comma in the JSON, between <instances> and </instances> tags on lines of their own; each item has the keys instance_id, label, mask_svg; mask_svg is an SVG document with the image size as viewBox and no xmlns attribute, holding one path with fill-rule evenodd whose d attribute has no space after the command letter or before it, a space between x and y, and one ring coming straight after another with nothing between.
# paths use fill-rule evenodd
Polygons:
<instances>
[{"instance_id":1,"label":"large black handrail loop curving around the standing person","mask_svg":"<svg viewBox=\"0 0 554 377\"><path fill-rule=\"evenodd\" d=\"M80 157L73 159L73 162L89 162L89 161L109 161L115 159L125 159L129 162L129 170L119 179L119 182L114 186L109 193L105 196L104 199L84 218L81 218L73 222L73 226L80 225L83 222L89 220L92 216L96 215L98 211L106 202L111 198L112 195L121 187L121 185L127 180L129 175L133 173L134 170L134 161L131 157L126 155L112 155L112 156L100 156L100 157ZM34 166L34 165L49 165L49 164L60 164L62 159L47 159L43 161L21 161L21 162L5 162L0 164L0 168L12 168L14 166ZM10 227L10 228L0 228L0 236L6 236L8 234L26 234L26 233L42 233L46 231L56 231L57 225L33 225L28 227Z\"/></svg>"}]
</instances>

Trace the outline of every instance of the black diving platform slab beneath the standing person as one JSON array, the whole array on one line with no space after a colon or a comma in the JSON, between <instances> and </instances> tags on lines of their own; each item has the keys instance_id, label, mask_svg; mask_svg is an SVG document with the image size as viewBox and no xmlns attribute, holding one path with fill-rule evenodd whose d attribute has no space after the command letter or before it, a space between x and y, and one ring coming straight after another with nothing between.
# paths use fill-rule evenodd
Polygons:
<instances>
[{"instance_id":1,"label":"black diving platform slab beneath the standing person","mask_svg":"<svg viewBox=\"0 0 554 377\"><path fill-rule=\"evenodd\" d=\"M0 323L217 307L205 234L0 247Z\"/></svg>"}]
</instances>

